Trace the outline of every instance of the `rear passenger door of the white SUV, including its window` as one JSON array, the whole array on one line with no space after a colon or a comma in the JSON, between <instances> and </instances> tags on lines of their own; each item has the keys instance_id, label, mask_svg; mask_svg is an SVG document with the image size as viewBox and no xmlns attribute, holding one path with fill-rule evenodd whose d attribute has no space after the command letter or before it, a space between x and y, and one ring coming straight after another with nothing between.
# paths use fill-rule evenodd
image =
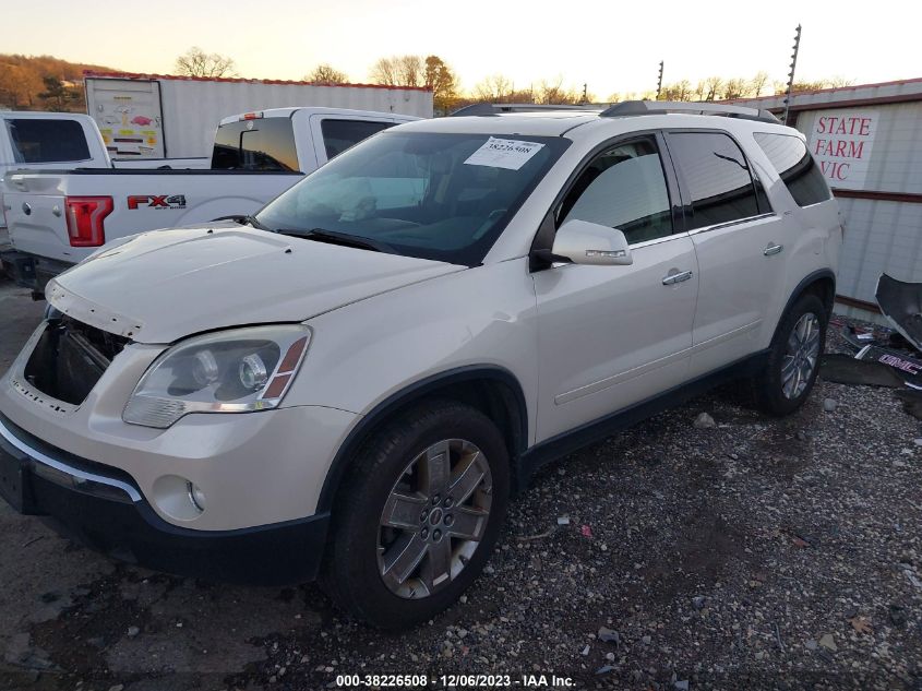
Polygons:
<instances>
[{"instance_id":1,"label":"rear passenger door of the white SUV, including its window","mask_svg":"<svg viewBox=\"0 0 922 691\"><path fill-rule=\"evenodd\" d=\"M737 141L718 130L666 134L701 278L690 374L767 346L769 308L785 288L786 225Z\"/></svg>"}]
</instances>

